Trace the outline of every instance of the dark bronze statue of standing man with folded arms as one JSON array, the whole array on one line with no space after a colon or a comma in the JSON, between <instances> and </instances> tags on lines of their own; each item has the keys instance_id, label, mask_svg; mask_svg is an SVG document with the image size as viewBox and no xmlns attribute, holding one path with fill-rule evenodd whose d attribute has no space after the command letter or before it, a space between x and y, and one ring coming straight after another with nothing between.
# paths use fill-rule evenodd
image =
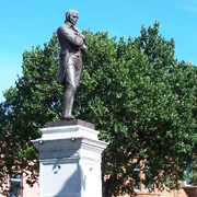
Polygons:
<instances>
[{"instance_id":1,"label":"dark bronze statue of standing man with folded arms","mask_svg":"<svg viewBox=\"0 0 197 197\"><path fill-rule=\"evenodd\" d=\"M79 85L82 70L82 55L88 50L84 45L84 36L74 27L78 19L77 10L68 10L65 24L57 31L61 47L58 82L66 86L61 119L67 120L74 118L71 114L74 93Z\"/></svg>"}]
</instances>

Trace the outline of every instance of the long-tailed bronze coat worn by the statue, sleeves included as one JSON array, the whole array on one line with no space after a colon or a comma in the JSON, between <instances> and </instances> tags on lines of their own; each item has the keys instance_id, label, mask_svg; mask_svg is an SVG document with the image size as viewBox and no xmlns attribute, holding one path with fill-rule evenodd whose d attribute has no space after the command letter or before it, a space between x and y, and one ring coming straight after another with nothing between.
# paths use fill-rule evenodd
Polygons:
<instances>
[{"instance_id":1,"label":"long-tailed bronze coat worn by the statue, sleeves included","mask_svg":"<svg viewBox=\"0 0 197 197\"><path fill-rule=\"evenodd\" d=\"M77 28L67 22L57 30L57 35L61 47L59 54L58 83L66 85L65 78L68 60L72 55L82 56L83 37Z\"/></svg>"}]
</instances>

